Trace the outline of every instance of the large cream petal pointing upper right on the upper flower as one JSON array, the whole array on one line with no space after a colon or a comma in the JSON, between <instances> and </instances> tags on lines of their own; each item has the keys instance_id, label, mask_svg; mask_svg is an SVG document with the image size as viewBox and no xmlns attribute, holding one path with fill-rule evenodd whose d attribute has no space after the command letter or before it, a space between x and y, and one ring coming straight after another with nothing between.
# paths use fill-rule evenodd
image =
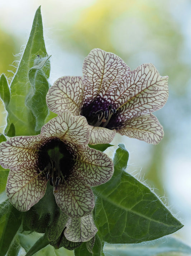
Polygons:
<instances>
[{"instance_id":1,"label":"large cream petal pointing upper right on the upper flower","mask_svg":"<svg viewBox=\"0 0 191 256\"><path fill-rule=\"evenodd\" d=\"M121 112L126 118L152 113L168 99L168 76L159 75L153 64L142 64L127 77L127 89L123 95L126 103Z\"/></svg>"}]
</instances>

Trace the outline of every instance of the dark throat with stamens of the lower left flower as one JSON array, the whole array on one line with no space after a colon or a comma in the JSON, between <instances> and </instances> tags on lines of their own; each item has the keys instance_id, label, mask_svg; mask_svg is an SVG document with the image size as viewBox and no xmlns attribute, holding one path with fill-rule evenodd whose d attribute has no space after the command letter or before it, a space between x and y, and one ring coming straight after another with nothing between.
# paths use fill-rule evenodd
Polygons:
<instances>
[{"instance_id":1,"label":"dark throat with stamens of the lower left flower","mask_svg":"<svg viewBox=\"0 0 191 256\"><path fill-rule=\"evenodd\" d=\"M46 141L39 149L39 170L54 187L54 192L71 174L74 163L72 158L71 149L58 138Z\"/></svg>"}]
</instances>

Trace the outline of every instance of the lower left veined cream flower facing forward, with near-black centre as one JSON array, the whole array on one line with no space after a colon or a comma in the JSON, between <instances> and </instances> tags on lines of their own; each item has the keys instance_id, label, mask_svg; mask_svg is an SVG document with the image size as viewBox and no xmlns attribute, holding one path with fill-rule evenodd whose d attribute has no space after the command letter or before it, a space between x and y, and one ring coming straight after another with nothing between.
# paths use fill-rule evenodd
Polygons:
<instances>
[{"instance_id":1,"label":"lower left veined cream flower facing forward, with near-black centre","mask_svg":"<svg viewBox=\"0 0 191 256\"><path fill-rule=\"evenodd\" d=\"M6 193L19 211L28 211L53 186L57 205L70 217L91 214L90 187L108 181L113 162L89 148L86 118L66 111L46 123L40 135L12 137L0 144L0 164L11 169ZM48 202L47 202L48 203Z\"/></svg>"}]
</instances>

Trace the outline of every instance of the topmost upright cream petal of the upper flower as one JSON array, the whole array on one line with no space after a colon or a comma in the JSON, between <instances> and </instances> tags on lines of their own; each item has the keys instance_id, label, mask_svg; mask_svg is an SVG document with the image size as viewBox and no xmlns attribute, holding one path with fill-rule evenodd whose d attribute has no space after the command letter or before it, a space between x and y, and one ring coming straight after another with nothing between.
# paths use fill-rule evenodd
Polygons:
<instances>
[{"instance_id":1,"label":"topmost upright cream petal of the upper flower","mask_svg":"<svg viewBox=\"0 0 191 256\"><path fill-rule=\"evenodd\" d=\"M130 68L113 53L93 49L83 62L83 84L85 101L103 97L118 97L118 91L124 90L123 80Z\"/></svg>"}]
</instances>

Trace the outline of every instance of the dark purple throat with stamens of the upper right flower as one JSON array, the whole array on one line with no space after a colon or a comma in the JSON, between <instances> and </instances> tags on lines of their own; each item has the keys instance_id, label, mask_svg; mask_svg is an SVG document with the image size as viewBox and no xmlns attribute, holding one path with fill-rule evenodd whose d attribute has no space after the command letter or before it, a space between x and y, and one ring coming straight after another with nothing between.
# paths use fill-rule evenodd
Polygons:
<instances>
[{"instance_id":1,"label":"dark purple throat with stamens of the upper right flower","mask_svg":"<svg viewBox=\"0 0 191 256\"><path fill-rule=\"evenodd\" d=\"M109 122L115 116L115 113L115 107L101 98L96 98L91 103L85 103L81 110L81 115L86 117L89 125L108 129L114 129Z\"/></svg>"}]
</instances>

